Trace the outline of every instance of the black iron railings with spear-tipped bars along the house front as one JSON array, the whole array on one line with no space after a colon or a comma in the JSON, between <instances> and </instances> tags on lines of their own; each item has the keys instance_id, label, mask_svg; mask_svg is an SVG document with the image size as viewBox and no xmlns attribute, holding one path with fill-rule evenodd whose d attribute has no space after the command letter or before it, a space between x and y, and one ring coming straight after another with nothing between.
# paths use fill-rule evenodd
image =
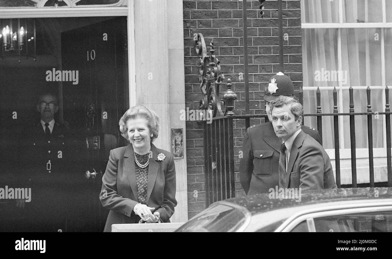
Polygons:
<instances>
[{"instance_id":1,"label":"black iron railings with spear-tipped bars along the house front","mask_svg":"<svg viewBox=\"0 0 392 259\"><path fill-rule=\"evenodd\" d=\"M372 115L385 115L385 125L387 132L387 178L388 182L384 186L392 187L392 163L391 163L391 132L390 132L390 108L388 103L388 87L385 88L386 105L385 112L372 112L370 106L370 88L367 89L368 103L367 112L354 112L354 103L352 87L350 87L350 112L339 113L337 106L337 91L334 89L334 112L321 113L321 94L316 94L318 103L317 113L304 114L304 117L316 116L317 130L320 137L323 134L321 124L322 116L334 117L334 138L335 138L335 174L336 185L341 188L340 174L340 150L339 150L339 116L350 117L350 142L351 142L351 174L352 184L350 187L357 187L357 170L356 170L356 140L355 140L355 117L367 116L368 125L368 152L369 152L369 187L375 187L374 184L374 165L373 165L373 132L372 132ZM318 90L319 92L319 90ZM302 98L300 98L302 99ZM205 186L206 186L206 203L207 205L235 196L234 182L234 120L250 120L265 118L267 115L232 115L214 117L210 122L204 122L204 159L205 159ZM246 123L245 123L246 124Z\"/></svg>"}]
</instances>

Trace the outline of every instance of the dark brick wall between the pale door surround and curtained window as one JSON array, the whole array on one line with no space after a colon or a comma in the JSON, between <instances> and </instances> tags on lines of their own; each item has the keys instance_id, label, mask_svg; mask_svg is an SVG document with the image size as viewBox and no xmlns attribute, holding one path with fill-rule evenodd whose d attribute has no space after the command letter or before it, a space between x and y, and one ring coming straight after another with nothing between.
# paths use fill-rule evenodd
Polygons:
<instances>
[{"instance_id":1,"label":"dark brick wall between the pale door surround and curtained window","mask_svg":"<svg viewBox=\"0 0 392 259\"><path fill-rule=\"evenodd\" d=\"M261 19L260 2L247 1L249 100L250 114L264 114L264 88L268 79L279 72L278 1L264 3ZM283 1L283 33L285 74L290 76L298 91L302 84L301 11L299 0ZM194 51L194 33L202 33L206 45L214 38L215 54L221 62L225 78L231 78L237 93L234 112L244 114L244 83L239 79L243 67L242 1L183 1L185 106L198 109L202 98L198 81L198 56ZM209 48L207 48L207 51ZM225 85L222 85L225 87ZM224 88L222 88L224 89ZM250 125L260 120L251 120ZM234 154L236 155L236 195L244 195L238 176L238 152L242 147L245 121L234 121ZM205 208L203 125L186 123L188 215L189 218ZM197 197L194 193L197 191Z\"/></svg>"}]
</instances>

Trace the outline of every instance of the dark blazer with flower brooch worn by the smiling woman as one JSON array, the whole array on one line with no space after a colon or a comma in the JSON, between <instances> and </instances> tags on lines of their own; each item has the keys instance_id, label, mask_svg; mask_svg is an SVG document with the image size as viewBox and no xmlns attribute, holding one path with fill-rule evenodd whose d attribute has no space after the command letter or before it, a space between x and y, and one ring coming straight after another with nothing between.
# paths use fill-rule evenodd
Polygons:
<instances>
[{"instance_id":1,"label":"dark blazer with flower brooch worn by the smiling woman","mask_svg":"<svg viewBox=\"0 0 392 259\"><path fill-rule=\"evenodd\" d=\"M176 169L173 155L151 144L152 158L148 168L147 206L160 213L163 222L170 222L176 201ZM158 154L166 157L158 160ZM138 223L133 212L137 202L135 158L132 144L110 151L109 162L102 177L100 193L102 206L110 210L104 232L111 232L112 224Z\"/></svg>"}]
</instances>

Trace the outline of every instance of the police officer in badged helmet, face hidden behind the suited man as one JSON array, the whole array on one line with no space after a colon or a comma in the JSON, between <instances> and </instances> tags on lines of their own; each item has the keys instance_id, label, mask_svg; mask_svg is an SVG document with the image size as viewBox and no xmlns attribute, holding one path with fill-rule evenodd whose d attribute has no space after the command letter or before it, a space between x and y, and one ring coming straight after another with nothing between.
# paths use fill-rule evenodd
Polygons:
<instances>
[{"instance_id":1,"label":"police officer in badged helmet, face hidden behind the suited man","mask_svg":"<svg viewBox=\"0 0 392 259\"><path fill-rule=\"evenodd\" d=\"M271 76L265 87L265 111L269 122L249 127L243 139L243 158L240 159L240 183L247 195L269 192L279 186L279 155L282 139L278 138L271 123L269 102L278 96L292 96L294 85L291 79L278 72ZM320 144L317 130L302 126L301 129Z\"/></svg>"}]
</instances>

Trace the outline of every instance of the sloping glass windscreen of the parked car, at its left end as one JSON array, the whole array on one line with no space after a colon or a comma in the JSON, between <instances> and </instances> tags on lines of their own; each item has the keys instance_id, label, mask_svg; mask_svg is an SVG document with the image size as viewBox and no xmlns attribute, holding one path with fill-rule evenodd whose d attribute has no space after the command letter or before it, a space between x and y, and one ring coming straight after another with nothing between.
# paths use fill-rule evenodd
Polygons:
<instances>
[{"instance_id":1,"label":"sloping glass windscreen of the parked car, at its left end","mask_svg":"<svg viewBox=\"0 0 392 259\"><path fill-rule=\"evenodd\" d=\"M193 217L175 232L235 232L245 223L245 214L234 206L216 204Z\"/></svg>"}]
</instances>

